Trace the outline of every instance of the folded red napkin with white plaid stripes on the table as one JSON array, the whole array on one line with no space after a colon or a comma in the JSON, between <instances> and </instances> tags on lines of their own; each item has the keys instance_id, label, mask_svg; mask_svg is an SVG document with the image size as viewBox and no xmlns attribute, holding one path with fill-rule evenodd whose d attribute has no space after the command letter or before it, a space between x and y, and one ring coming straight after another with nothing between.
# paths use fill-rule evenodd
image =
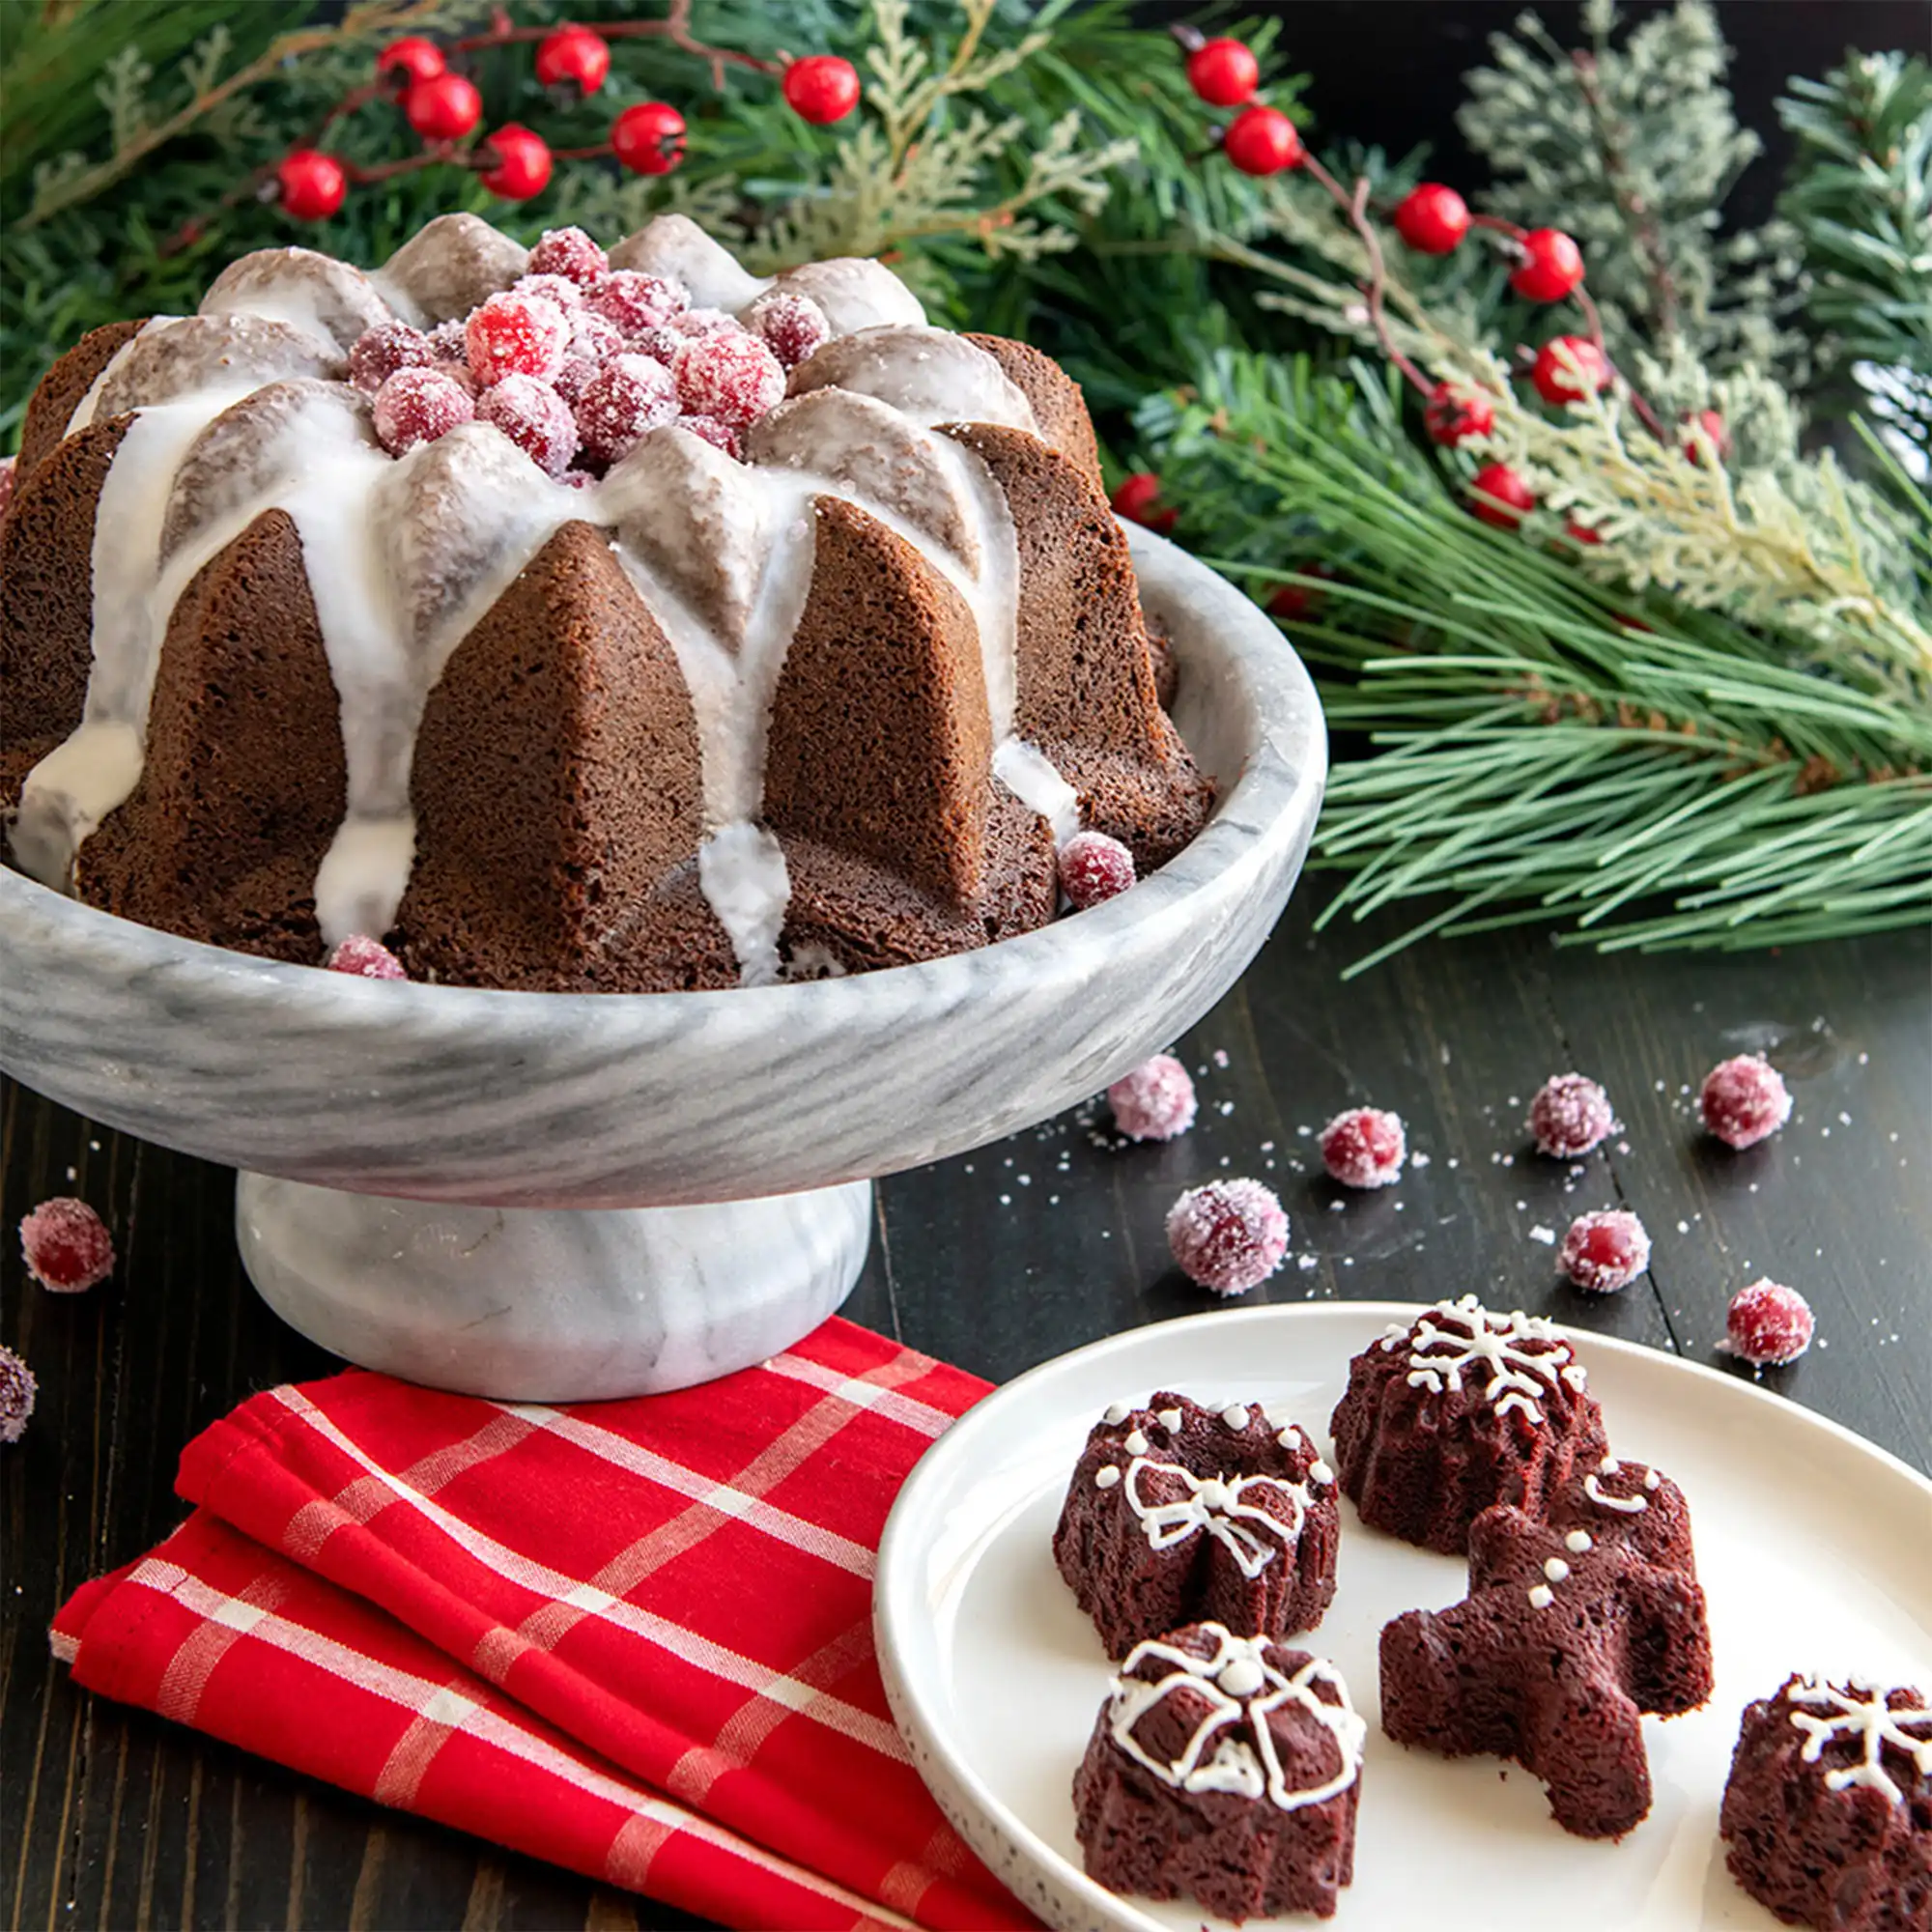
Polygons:
<instances>
[{"instance_id":1,"label":"folded red napkin with white plaid stripes on the table","mask_svg":"<svg viewBox=\"0 0 1932 1932\"><path fill-rule=\"evenodd\" d=\"M361 1370L182 1457L54 1623L77 1683L736 1926L1030 1926L920 1783L873 1551L987 1389L848 1321L576 1408Z\"/></svg>"}]
</instances>

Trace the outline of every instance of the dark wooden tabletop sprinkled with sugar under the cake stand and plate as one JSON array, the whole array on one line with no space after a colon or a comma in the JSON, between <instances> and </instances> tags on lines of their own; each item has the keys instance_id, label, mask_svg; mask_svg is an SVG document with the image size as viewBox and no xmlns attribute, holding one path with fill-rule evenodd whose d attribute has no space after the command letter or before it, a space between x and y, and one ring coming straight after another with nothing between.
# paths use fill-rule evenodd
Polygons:
<instances>
[{"instance_id":1,"label":"dark wooden tabletop sprinkled with sugar under the cake stand and plate","mask_svg":"<svg viewBox=\"0 0 1932 1932\"><path fill-rule=\"evenodd\" d=\"M1696 960L1503 937L1416 949L1343 985L1354 937L1318 943L1289 916L1179 1049L1204 1070L1184 1140L1115 1150L1084 1111L885 1182L846 1312L1014 1376L1200 1310L1206 1296L1167 1264L1167 1204L1248 1173L1294 1221L1294 1256L1260 1291L1271 1300L1474 1289L1719 1362L1729 1294L1774 1273L1810 1296L1818 1345L1766 1379L1932 1468L1922 935ZM1690 1097L1714 1061L1758 1047L1793 1080L1797 1115L1733 1155L1696 1134ZM1607 1084L1625 1122L1578 1180L1532 1157L1520 1130L1538 1082L1571 1066ZM1399 1109L1428 1165L1343 1202L1318 1179L1310 1132L1358 1099ZM0 1924L688 1924L70 1689L46 1621L174 1526L182 1445L247 1393L330 1360L243 1279L226 1173L12 1086L4 1167L8 1229L48 1194L83 1194L122 1265L62 1300L25 1283L12 1235L0 1242L0 1339L41 1378L27 1439L0 1449ZM1650 1227L1652 1273L1586 1300L1532 1231L1619 1202Z\"/></svg>"}]
</instances>

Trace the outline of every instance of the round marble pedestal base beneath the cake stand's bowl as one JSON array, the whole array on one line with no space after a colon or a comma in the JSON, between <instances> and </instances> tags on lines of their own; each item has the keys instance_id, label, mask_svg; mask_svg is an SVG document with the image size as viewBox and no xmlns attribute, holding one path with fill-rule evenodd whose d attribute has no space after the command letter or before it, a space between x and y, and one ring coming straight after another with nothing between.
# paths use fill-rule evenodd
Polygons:
<instances>
[{"instance_id":1,"label":"round marble pedestal base beneath the cake stand's bowl","mask_svg":"<svg viewBox=\"0 0 1932 1932\"><path fill-rule=\"evenodd\" d=\"M363 1368L466 1395L684 1389L810 1335L850 1294L871 1182L715 1208L468 1208L236 1177L263 1300Z\"/></svg>"}]
</instances>

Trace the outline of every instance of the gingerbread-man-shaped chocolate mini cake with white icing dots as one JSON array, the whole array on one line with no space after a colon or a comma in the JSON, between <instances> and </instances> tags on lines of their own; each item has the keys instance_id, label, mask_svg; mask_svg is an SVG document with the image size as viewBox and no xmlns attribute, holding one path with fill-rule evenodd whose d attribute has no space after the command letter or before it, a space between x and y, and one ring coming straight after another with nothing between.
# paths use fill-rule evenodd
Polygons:
<instances>
[{"instance_id":1,"label":"gingerbread-man-shaped chocolate mini cake with white icing dots","mask_svg":"<svg viewBox=\"0 0 1932 1932\"><path fill-rule=\"evenodd\" d=\"M1499 1503L1468 1532L1468 1596L1381 1633L1381 1727L1451 1758L1515 1758L1578 1837L1650 1810L1640 1714L1710 1696L1710 1629L1677 1484L1604 1457L1549 1517Z\"/></svg>"}]
</instances>

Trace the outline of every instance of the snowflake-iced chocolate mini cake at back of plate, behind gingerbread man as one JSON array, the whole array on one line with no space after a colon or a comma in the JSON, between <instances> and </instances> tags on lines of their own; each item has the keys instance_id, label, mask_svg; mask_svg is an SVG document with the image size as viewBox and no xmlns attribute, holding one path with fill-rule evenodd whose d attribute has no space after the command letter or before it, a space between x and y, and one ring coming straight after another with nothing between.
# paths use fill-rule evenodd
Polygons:
<instances>
[{"instance_id":1,"label":"snowflake-iced chocolate mini cake at back of plate, behind gingerbread man","mask_svg":"<svg viewBox=\"0 0 1932 1932\"><path fill-rule=\"evenodd\" d=\"M1492 1503L1532 1517L1571 1468L1604 1455L1604 1416L1563 1333L1474 1294L1395 1323L1349 1364L1329 1418L1343 1493L1362 1520L1461 1551Z\"/></svg>"}]
</instances>

